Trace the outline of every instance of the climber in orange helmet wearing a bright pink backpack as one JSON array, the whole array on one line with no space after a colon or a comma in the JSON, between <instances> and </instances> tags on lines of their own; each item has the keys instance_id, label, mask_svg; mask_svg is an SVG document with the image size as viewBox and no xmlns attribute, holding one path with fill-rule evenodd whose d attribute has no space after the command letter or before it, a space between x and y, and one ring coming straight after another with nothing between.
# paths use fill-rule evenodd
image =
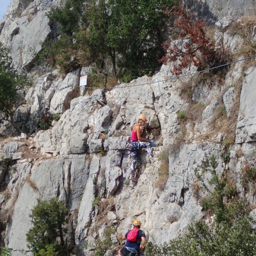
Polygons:
<instances>
[{"instance_id":1,"label":"climber in orange helmet wearing a bright pink backpack","mask_svg":"<svg viewBox=\"0 0 256 256\"><path fill-rule=\"evenodd\" d=\"M142 247L146 243L145 233L140 230L141 222L135 220L133 222L133 229L129 230L122 240L127 240L124 247L118 251L118 256L138 256L140 243Z\"/></svg>"}]
</instances>

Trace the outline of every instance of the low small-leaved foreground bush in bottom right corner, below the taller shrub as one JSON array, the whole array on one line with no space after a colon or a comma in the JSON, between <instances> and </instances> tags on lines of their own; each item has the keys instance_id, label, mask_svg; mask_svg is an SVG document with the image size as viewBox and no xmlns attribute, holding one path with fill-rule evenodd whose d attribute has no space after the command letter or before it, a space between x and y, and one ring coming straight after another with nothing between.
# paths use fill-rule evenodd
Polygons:
<instances>
[{"instance_id":1,"label":"low small-leaved foreground bush in bottom right corner, below the taller shrub","mask_svg":"<svg viewBox=\"0 0 256 256\"><path fill-rule=\"evenodd\" d=\"M251 227L251 219L240 217L234 225L217 223L211 227L202 221L188 227L184 238L165 243L163 246L146 245L146 255L172 256L213 256L213 255L255 255L256 232Z\"/></svg>"}]
</instances>

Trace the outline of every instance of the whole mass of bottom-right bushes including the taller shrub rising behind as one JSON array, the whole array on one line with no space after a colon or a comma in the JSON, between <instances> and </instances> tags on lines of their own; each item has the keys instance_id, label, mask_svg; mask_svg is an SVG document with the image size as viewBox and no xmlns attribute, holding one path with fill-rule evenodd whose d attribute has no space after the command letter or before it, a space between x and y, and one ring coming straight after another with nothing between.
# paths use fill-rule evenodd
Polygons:
<instances>
[{"instance_id":1,"label":"whole mass of bottom-right bushes including the taller shrub rising behind","mask_svg":"<svg viewBox=\"0 0 256 256\"><path fill-rule=\"evenodd\" d=\"M188 226L184 236L179 234L163 245L147 243L146 255L255 255L256 230L251 225L255 221L249 217L247 203L237 196L236 187L228 181L227 175L218 177L216 166L215 156L212 155L203 172L211 174L209 184L214 185L213 191L206 186L203 174L195 170L199 182L209 192L203 205L204 210L215 215L214 222L206 224L203 220L196 221ZM198 190L198 183L196 186Z\"/></svg>"}]
</instances>

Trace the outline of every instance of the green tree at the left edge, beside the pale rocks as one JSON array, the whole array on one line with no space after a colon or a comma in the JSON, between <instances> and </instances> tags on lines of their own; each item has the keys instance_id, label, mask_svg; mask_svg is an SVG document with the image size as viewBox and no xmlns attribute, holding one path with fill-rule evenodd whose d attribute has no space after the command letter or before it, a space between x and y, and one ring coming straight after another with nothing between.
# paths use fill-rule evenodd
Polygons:
<instances>
[{"instance_id":1,"label":"green tree at the left edge, beside the pale rocks","mask_svg":"<svg viewBox=\"0 0 256 256\"><path fill-rule=\"evenodd\" d=\"M2 119L10 121L20 134L21 131L14 122L14 113L20 93L23 93L21 90L29 86L30 81L25 74L12 68L11 63L9 50L0 43L0 111L4 114Z\"/></svg>"}]
</instances>

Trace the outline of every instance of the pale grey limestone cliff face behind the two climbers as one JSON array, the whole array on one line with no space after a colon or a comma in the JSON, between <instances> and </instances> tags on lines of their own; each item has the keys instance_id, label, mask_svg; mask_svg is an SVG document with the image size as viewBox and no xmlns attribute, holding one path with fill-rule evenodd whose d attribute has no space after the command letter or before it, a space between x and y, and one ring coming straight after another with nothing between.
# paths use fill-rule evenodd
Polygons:
<instances>
[{"instance_id":1,"label":"pale grey limestone cliff face behind the two climbers","mask_svg":"<svg viewBox=\"0 0 256 256\"><path fill-rule=\"evenodd\" d=\"M15 65L27 71L33 67L40 41L51 33L45 14L58 4L60 1L54 0L12 1L0 24L0 41L11 47ZM241 5L247 4L241 1ZM221 2L204 5L215 14ZM230 8L223 8L219 15L227 16ZM245 14L243 10L246 8L235 14ZM220 35L232 52L243 44L241 37L228 31L217 30L216 36ZM218 163L217 173L230 171L239 191L256 206L252 187L245 190L241 182L242 168L245 163L253 165L255 155L256 68L250 63L231 64L222 79L201 79L196 74L174 80L171 65L163 65L152 77L122 83L106 92L107 104L101 103L102 90L89 93L79 88L79 77L88 68L65 78L56 71L38 77L26 93L25 104L15 113L15 121L31 136L0 141L0 213L5 245L13 248L14 256L32 255L26 245L31 209L37 199L52 197L67 203L67 239L77 255L94 255L95 240L102 239L109 226L116 228L112 241L120 244L120 235L134 218L141 220L147 240L167 242L204 215L200 198L207 193L196 189L194 170L204 169L212 155ZM195 71L191 67L183 75ZM192 101L186 97L188 84L195 88ZM226 122L218 124L216 113L223 106ZM182 111L191 121L182 121ZM38 131L43 113L59 114L60 118L47 131ZM141 151L135 183L127 179L131 163L127 140L141 113L150 119L147 133L157 146L152 164L146 151ZM234 141L231 145L225 142L230 138ZM227 151L228 161L223 159ZM161 183L166 152L168 177ZM111 250L107 253L112 255Z\"/></svg>"}]
</instances>

